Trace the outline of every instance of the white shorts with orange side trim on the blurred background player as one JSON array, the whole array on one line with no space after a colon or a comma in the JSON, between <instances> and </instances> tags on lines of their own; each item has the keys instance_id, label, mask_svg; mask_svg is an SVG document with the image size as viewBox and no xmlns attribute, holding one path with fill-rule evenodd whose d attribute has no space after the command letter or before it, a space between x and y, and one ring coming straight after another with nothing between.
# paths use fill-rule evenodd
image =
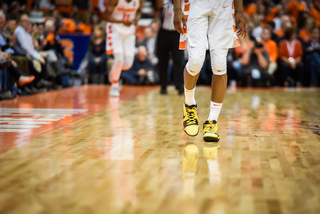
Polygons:
<instances>
[{"instance_id":1,"label":"white shorts with orange side trim on the blurred background player","mask_svg":"<svg viewBox=\"0 0 320 214\"><path fill-rule=\"evenodd\" d=\"M107 23L106 53L121 57L134 57L136 36L135 26Z\"/></svg>"}]
</instances>

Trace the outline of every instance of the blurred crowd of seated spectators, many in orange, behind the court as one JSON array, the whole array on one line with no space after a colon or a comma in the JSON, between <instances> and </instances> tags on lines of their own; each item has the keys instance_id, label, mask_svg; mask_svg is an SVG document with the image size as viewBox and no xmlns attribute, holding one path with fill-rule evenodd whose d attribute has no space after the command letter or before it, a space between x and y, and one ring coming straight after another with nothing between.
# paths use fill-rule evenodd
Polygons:
<instances>
[{"instance_id":1,"label":"blurred crowd of seated spectators, many in orange, behind the court","mask_svg":"<svg viewBox=\"0 0 320 214\"><path fill-rule=\"evenodd\" d=\"M65 33L91 35L80 66L84 68L83 82L108 83L112 56L105 52L105 3L0 0L0 100L72 85L73 62L59 37ZM145 6L149 9L142 18L153 21L137 27L136 57L121 79L123 84L157 84L159 76L166 73L170 84L180 77L175 75L172 55L166 59L168 66L159 65L161 10L156 0L146 1ZM229 85L319 86L320 0L245 0L244 13L248 35L239 38L241 47L229 51ZM199 84L211 83L207 55ZM181 61L186 60L184 53Z\"/></svg>"}]
</instances>

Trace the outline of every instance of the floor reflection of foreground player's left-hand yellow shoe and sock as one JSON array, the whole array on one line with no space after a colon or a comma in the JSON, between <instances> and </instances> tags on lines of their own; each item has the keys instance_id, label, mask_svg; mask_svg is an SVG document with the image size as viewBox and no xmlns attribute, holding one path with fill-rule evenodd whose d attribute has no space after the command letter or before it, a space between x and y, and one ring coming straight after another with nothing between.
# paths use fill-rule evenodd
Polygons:
<instances>
[{"instance_id":1,"label":"floor reflection of foreground player's left-hand yellow shoe and sock","mask_svg":"<svg viewBox=\"0 0 320 214\"><path fill-rule=\"evenodd\" d=\"M182 150L182 171L184 197L194 197L194 179L199 159L199 147L197 144L187 144Z\"/></svg>"}]
</instances>

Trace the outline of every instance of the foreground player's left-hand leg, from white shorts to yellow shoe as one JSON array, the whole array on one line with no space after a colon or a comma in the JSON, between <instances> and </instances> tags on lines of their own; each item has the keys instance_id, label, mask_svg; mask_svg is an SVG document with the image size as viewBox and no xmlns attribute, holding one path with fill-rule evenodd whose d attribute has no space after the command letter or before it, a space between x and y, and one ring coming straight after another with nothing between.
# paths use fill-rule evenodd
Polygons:
<instances>
[{"instance_id":1,"label":"foreground player's left-hand leg, from white shorts to yellow shoe","mask_svg":"<svg viewBox=\"0 0 320 214\"><path fill-rule=\"evenodd\" d=\"M189 136L196 136L199 132L197 103L194 97L196 83L203 65L208 44L208 17L202 15L201 2L195 1L191 5L187 23L188 62L184 70L185 103L183 127Z\"/></svg>"}]
</instances>

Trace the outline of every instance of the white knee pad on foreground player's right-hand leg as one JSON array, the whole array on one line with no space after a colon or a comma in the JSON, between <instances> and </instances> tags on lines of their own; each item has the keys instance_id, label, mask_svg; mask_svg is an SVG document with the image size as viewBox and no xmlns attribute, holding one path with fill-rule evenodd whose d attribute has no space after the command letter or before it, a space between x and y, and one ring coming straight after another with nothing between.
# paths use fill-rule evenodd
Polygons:
<instances>
[{"instance_id":1,"label":"white knee pad on foreground player's right-hand leg","mask_svg":"<svg viewBox=\"0 0 320 214\"><path fill-rule=\"evenodd\" d=\"M227 73L228 49L211 50L211 67L214 75L224 75Z\"/></svg>"}]
</instances>

